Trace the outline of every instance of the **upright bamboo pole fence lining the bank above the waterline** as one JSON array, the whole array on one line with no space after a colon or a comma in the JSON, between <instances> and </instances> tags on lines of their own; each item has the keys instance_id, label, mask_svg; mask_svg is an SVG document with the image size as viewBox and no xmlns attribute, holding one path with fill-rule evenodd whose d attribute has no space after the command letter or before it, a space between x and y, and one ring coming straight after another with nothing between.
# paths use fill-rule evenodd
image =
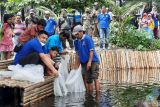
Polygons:
<instances>
[{"instance_id":1,"label":"upright bamboo pole fence lining the bank above the waterline","mask_svg":"<svg viewBox=\"0 0 160 107\"><path fill-rule=\"evenodd\" d=\"M73 68L75 54L70 54ZM100 69L160 68L160 51L106 50L98 53Z\"/></svg>"}]
</instances>

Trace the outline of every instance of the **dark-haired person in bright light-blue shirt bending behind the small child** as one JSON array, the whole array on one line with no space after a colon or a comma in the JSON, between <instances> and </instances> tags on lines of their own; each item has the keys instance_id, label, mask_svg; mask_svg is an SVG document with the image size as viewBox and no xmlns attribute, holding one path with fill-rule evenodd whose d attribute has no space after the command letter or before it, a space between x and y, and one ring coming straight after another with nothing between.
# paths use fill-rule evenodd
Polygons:
<instances>
[{"instance_id":1,"label":"dark-haired person in bright light-blue shirt bending behind the small child","mask_svg":"<svg viewBox=\"0 0 160 107\"><path fill-rule=\"evenodd\" d=\"M60 34L52 35L48 38L47 43L45 44L45 53L49 53L52 47L58 47L60 54L65 54L66 52L63 51L62 41L69 38L69 34L65 33L64 31L60 32Z\"/></svg>"}]
</instances>

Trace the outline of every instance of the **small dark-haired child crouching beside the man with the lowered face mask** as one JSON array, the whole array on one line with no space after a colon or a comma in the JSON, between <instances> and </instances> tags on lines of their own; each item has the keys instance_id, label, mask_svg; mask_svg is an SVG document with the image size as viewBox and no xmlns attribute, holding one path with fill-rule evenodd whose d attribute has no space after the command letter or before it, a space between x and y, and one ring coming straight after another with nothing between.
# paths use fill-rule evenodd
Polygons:
<instances>
[{"instance_id":1,"label":"small dark-haired child crouching beside the man with the lowered face mask","mask_svg":"<svg viewBox=\"0 0 160 107\"><path fill-rule=\"evenodd\" d=\"M51 47L49 52L49 57L54 61L54 67L58 70L59 64L61 63L61 57L59 55L59 49L58 47ZM47 68L47 73L50 75L51 71Z\"/></svg>"}]
</instances>

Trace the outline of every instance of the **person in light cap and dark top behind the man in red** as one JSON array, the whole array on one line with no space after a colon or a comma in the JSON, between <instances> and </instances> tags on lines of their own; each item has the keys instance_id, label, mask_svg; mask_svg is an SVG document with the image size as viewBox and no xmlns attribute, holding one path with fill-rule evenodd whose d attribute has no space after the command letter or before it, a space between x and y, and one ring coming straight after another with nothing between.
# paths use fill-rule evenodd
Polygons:
<instances>
[{"instance_id":1,"label":"person in light cap and dark top behind the man in red","mask_svg":"<svg viewBox=\"0 0 160 107\"><path fill-rule=\"evenodd\" d=\"M26 27L28 27L31 24L36 24L38 22L38 18L35 16L34 9L29 10L29 16L25 19Z\"/></svg>"}]
</instances>

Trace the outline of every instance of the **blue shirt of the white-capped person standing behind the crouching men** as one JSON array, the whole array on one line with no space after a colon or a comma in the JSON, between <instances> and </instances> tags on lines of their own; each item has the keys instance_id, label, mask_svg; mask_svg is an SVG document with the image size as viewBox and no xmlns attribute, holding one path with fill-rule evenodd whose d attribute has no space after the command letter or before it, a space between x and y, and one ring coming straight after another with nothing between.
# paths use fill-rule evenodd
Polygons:
<instances>
[{"instance_id":1,"label":"blue shirt of the white-capped person standing behind the crouching men","mask_svg":"<svg viewBox=\"0 0 160 107\"><path fill-rule=\"evenodd\" d=\"M54 29L55 25L56 25L56 22L53 19L49 19L47 21L45 31L48 33L49 36L51 36L55 33L55 29Z\"/></svg>"}]
</instances>

